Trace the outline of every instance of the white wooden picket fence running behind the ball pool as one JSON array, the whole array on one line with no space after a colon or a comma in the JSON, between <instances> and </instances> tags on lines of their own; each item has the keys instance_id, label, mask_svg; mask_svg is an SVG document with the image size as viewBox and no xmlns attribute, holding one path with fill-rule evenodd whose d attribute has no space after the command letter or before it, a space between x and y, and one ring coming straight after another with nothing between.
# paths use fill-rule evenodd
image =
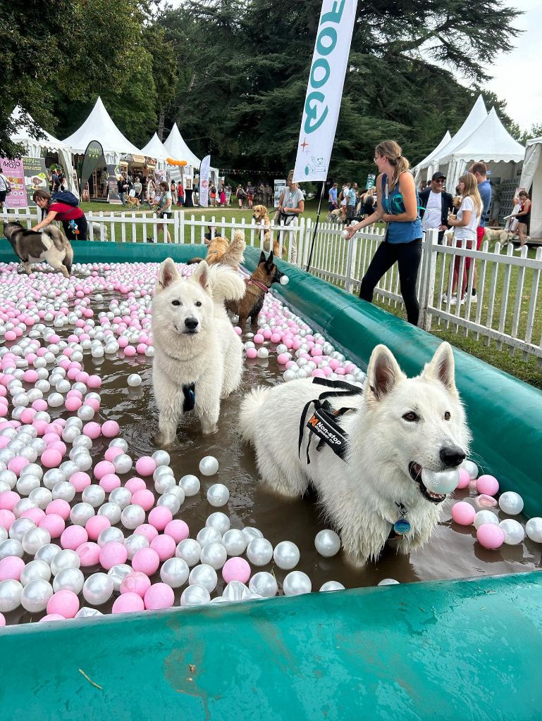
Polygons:
<instances>
[{"instance_id":1,"label":"white wooden picket fence running behind the ball pool","mask_svg":"<svg viewBox=\"0 0 542 721\"><path fill-rule=\"evenodd\" d=\"M39 211L38 211L39 212ZM17 218L27 227L38 222L35 210L10 211L1 213L4 221ZM236 220L195 216L185 211L175 211L173 217L162 220L153 213L130 213L119 211L87 213L89 239L109 242L165 242L165 229L170 231L172 242L203 243L209 227L222 236L231 237L235 229L245 234L249 246L263 248L265 226L252 219ZM162 230L158 229L162 226ZM310 263L310 273L328 280L349 293L358 293L364 274L375 255L378 245L383 242L384 231L374 226L358 232L349 241L342 236L342 226L323 223L318 226ZM312 243L313 224L310 218L300 218L298 226L271 225L271 237L279 242L284 257L292 261L292 239L297 243L296 265L307 267ZM465 303L453 305L453 266L458 259L459 278L463 278L465 259L476 262L477 302L473 301L474 262L468 273ZM524 358L535 355L542 366L542 247L536 257L528 258L527 249L521 255L514 255L511 245L502 249L497 243L490 252L484 242L481 250L437 244L437 231L429 231L422 241L421 265L417 280L417 294L420 304L420 327L430 330L433 323L463 335L471 334L475 340L484 339L486 345L493 340L497 348L507 346L510 353L516 350ZM396 265L378 283L375 296L388 306L403 304L399 288ZM443 300L446 296L447 300Z\"/></svg>"}]
</instances>

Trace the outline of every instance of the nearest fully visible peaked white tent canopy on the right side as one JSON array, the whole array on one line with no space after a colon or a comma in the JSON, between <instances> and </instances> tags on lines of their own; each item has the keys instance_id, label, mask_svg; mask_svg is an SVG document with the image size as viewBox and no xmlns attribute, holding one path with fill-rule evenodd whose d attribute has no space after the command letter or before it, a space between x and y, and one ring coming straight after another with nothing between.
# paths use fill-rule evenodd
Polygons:
<instances>
[{"instance_id":1,"label":"nearest fully visible peaked white tent canopy on the right side","mask_svg":"<svg viewBox=\"0 0 542 721\"><path fill-rule=\"evenodd\" d=\"M468 138L441 154L439 162L448 164L448 187L455 187L458 178L468 164L476 161L489 163L519 163L523 160L525 149L512 138L504 128L495 108L492 107L485 120Z\"/></svg>"}]
</instances>

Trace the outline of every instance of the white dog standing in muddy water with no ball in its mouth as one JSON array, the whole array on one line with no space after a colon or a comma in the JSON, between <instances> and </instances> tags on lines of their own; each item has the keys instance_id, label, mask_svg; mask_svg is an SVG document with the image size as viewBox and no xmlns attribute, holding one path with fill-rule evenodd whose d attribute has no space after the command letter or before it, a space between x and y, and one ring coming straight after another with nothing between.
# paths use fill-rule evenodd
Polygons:
<instances>
[{"instance_id":1,"label":"white dog standing in muddy water with no ball in its mouth","mask_svg":"<svg viewBox=\"0 0 542 721\"><path fill-rule=\"evenodd\" d=\"M192 405L201 430L217 430L220 399L237 388L242 371L242 343L224 300L237 300L244 293L245 283L231 267L210 268L203 261L190 280L182 280L171 258L162 262L152 300L157 442L175 441L180 416Z\"/></svg>"}]
</instances>

